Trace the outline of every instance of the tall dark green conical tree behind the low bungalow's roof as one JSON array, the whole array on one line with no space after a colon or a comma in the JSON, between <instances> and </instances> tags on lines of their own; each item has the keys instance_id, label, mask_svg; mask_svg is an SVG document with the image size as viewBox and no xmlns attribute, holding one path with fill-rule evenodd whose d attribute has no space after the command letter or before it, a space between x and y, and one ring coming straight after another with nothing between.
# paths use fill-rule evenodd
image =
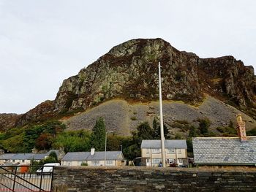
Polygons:
<instances>
[{"instance_id":1,"label":"tall dark green conical tree behind the low bungalow's roof","mask_svg":"<svg viewBox=\"0 0 256 192\"><path fill-rule=\"evenodd\" d=\"M91 134L91 147L94 147L95 150L105 150L105 123L103 118L98 118L96 120L95 126L92 129Z\"/></svg>"}]
</instances>

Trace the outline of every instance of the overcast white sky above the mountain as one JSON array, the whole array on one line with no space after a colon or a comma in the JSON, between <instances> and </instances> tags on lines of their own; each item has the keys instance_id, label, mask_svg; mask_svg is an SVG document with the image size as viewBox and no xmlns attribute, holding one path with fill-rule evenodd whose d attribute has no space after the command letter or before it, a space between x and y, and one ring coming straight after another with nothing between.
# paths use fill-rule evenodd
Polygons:
<instances>
[{"instance_id":1,"label":"overcast white sky above the mountain","mask_svg":"<svg viewBox=\"0 0 256 192\"><path fill-rule=\"evenodd\" d=\"M129 39L160 37L256 69L255 9L254 0L0 0L0 113L53 100L64 79Z\"/></svg>"}]
</instances>

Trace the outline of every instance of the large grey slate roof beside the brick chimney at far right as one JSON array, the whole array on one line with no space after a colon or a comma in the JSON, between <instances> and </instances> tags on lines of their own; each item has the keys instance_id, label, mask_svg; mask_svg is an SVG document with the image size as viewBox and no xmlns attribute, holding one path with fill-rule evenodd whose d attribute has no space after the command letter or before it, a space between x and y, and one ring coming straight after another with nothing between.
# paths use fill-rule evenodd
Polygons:
<instances>
[{"instance_id":1,"label":"large grey slate roof beside the brick chimney at far right","mask_svg":"<svg viewBox=\"0 0 256 192\"><path fill-rule=\"evenodd\" d=\"M197 137L192 143L195 164L256 164L256 137Z\"/></svg>"}]
</instances>

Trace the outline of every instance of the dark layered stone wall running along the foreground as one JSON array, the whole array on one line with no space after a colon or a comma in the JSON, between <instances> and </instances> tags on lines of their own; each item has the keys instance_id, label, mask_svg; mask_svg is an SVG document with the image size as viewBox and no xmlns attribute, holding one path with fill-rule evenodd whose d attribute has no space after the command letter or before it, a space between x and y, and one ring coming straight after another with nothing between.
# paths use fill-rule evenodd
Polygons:
<instances>
[{"instance_id":1,"label":"dark layered stone wall running along the foreground","mask_svg":"<svg viewBox=\"0 0 256 192\"><path fill-rule=\"evenodd\" d=\"M256 169L59 166L53 191L256 191Z\"/></svg>"}]
</instances>

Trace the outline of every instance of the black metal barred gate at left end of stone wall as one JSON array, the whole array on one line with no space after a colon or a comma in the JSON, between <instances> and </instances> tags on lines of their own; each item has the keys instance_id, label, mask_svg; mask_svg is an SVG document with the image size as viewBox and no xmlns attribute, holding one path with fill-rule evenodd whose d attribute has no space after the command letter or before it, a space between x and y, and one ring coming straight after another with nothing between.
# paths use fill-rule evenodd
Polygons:
<instances>
[{"instance_id":1,"label":"black metal barred gate at left end of stone wall","mask_svg":"<svg viewBox=\"0 0 256 192\"><path fill-rule=\"evenodd\" d=\"M33 166L0 166L0 191L51 191L53 167L43 166L30 172ZM50 170L45 172L45 170ZM29 171L29 172L28 172Z\"/></svg>"}]
</instances>

